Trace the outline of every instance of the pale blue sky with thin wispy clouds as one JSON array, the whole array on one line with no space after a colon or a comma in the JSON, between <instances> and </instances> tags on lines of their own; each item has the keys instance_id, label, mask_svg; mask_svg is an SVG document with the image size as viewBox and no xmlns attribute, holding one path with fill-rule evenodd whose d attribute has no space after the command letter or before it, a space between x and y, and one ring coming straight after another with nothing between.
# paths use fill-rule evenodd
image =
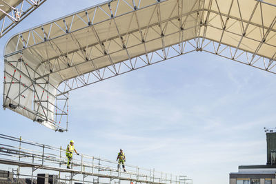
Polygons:
<instances>
[{"instance_id":1,"label":"pale blue sky with thin wispy clouds","mask_svg":"<svg viewBox=\"0 0 276 184\"><path fill-rule=\"evenodd\" d=\"M12 34L101 2L48 0L0 39L0 50ZM228 183L238 165L266 163L275 77L195 52L71 92L68 133L3 109L0 133L57 147L74 139L78 152L106 159L123 148L131 165L186 174L196 184Z\"/></svg>"}]
</instances>

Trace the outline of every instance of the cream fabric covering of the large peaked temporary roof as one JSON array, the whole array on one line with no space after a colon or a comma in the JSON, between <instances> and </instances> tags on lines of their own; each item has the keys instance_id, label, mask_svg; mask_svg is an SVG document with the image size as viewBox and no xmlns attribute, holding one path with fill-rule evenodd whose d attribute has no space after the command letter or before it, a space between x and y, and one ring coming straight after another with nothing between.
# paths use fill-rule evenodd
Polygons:
<instances>
[{"instance_id":1,"label":"cream fabric covering of the large peaked temporary roof","mask_svg":"<svg viewBox=\"0 0 276 184\"><path fill-rule=\"evenodd\" d=\"M131 62L144 54L148 57L157 50L164 52L190 40L196 40L195 50L207 52L211 52L206 49L208 41L214 41L212 53L220 55L226 52L226 45L230 48L228 58L238 60L246 53L247 60L240 62L275 72L276 7L269 3L273 1L108 1L14 35L4 54L8 61L17 61L23 53L24 62L32 69L31 79L26 79L29 83L48 78L52 104L55 96L62 94L57 89L64 81L107 67L116 75L117 63ZM166 59L166 53L164 56ZM259 65L262 59L256 58L262 58L264 64ZM8 63L6 66L10 67ZM8 103L4 105L8 107ZM33 111L32 103L26 104ZM57 123L54 114L51 119ZM25 115L35 119L34 115Z\"/></svg>"}]
</instances>

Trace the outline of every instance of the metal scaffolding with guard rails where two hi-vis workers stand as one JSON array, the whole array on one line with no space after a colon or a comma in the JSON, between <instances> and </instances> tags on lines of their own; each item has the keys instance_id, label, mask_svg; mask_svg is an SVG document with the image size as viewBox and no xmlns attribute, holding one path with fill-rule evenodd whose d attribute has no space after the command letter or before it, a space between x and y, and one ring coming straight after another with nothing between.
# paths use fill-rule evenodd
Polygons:
<instances>
[{"instance_id":1,"label":"metal scaffolding with guard rails where two hi-vis workers stand","mask_svg":"<svg viewBox=\"0 0 276 184\"><path fill-rule=\"evenodd\" d=\"M55 172L58 175L59 183L189 183L188 179L183 176L133 165L126 165L128 171L121 172L117 168L117 162L86 154L74 155L71 162L72 169L67 169L66 150L62 147L52 147L4 134L0 134L0 140L0 164L16 166L17 170L14 175L17 181L20 177L29 177L33 182L34 178L37 178L34 176L34 172L48 170L48 172ZM22 170L26 170L27 173L24 174Z\"/></svg>"}]
</instances>

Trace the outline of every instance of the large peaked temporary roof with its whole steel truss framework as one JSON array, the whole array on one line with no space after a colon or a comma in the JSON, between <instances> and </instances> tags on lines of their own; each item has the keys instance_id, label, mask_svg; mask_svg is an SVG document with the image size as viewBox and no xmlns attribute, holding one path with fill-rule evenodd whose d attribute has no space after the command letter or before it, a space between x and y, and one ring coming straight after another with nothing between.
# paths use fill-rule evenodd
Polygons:
<instances>
[{"instance_id":1,"label":"large peaked temporary roof with its whole steel truss framework","mask_svg":"<svg viewBox=\"0 0 276 184\"><path fill-rule=\"evenodd\" d=\"M8 45L3 106L15 104L14 111L64 131L71 90L182 54L209 52L275 74L276 7L253 0L108 1L17 34ZM21 74L37 106L20 103L21 88L14 88L18 101L10 97Z\"/></svg>"}]
</instances>

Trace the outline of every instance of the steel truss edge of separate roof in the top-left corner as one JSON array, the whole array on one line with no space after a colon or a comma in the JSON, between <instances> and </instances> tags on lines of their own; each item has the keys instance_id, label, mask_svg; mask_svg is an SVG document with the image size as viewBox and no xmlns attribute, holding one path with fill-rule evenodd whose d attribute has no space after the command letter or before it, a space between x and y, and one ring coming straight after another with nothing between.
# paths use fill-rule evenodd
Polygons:
<instances>
[{"instance_id":1,"label":"steel truss edge of separate roof in the top-left corner","mask_svg":"<svg viewBox=\"0 0 276 184\"><path fill-rule=\"evenodd\" d=\"M14 5L10 1L0 0L1 32L0 38L25 19L31 12L39 8L46 0L20 0Z\"/></svg>"}]
</instances>

